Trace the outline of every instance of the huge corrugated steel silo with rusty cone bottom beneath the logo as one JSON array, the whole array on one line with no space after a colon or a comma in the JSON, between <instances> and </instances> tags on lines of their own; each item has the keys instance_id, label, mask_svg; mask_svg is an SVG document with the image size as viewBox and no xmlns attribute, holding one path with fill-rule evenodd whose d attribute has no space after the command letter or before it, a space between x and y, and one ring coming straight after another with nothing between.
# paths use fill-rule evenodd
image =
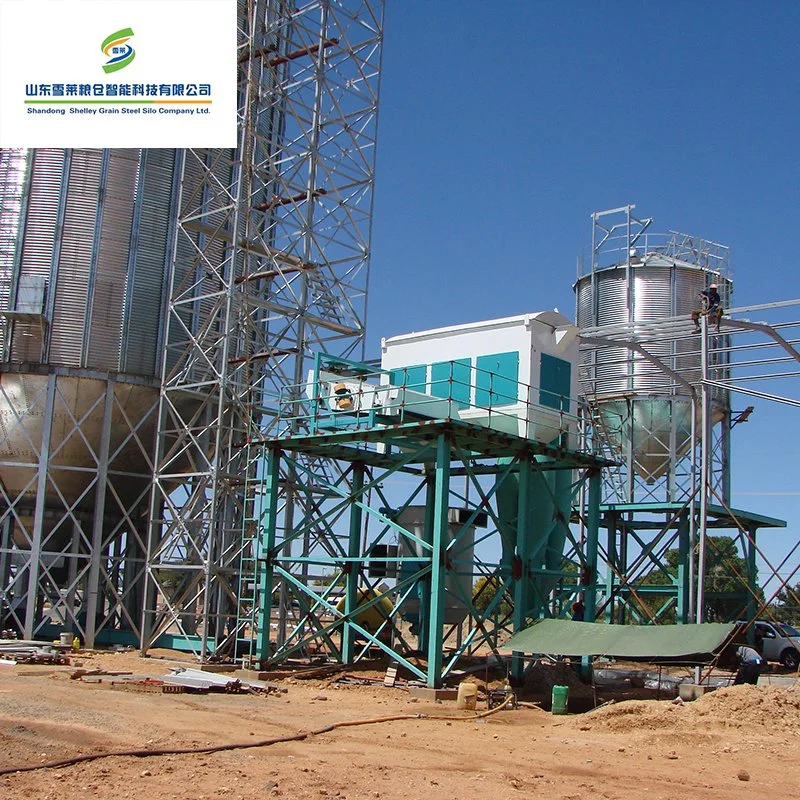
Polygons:
<instances>
[{"instance_id":1,"label":"huge corrugated steel silo with rusty cone bottom beneath the logo","mask_svg":"<svg viewBox=\"0 0 800 800\"><path fill-rule=\"evenodd\" d=\"M138 640L179 164L0 152L1 622L27 638Z\"/></svg>"}]
</instances>

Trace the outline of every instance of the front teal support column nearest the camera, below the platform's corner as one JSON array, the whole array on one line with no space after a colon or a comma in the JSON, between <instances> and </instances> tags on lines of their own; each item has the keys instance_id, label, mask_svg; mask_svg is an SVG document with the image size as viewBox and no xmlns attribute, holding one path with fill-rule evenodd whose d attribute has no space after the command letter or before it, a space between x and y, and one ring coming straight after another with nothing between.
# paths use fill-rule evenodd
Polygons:
<instances>
[{"instance_id":1,"label":"front teal support column nearest the camera, below the platform's corner","mask_svg":"<svg viewBox=\"0 0 800 800\"><path fill-rule=\"evenodd\" d=\"M428 614L428 686L442 683L442 650L444 649L444 592L447 578L445 548L450 498L450 440L446 433L436 442L435 505L433 512L433 551L431 552L431 591Z\"/></svg>"}]
</instances>

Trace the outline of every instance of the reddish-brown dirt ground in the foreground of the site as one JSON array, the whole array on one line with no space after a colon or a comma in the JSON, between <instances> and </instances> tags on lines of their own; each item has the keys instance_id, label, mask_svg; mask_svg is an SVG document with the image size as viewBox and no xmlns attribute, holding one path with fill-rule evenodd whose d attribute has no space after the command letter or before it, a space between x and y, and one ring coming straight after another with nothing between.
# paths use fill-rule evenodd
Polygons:
<instances>
[{"instance_id":1,"label":"reddish-brown dirt ground in the foreground of the site","mask_svg":"<svg viewBox=\"0 0 800 800\"><path fill-rule=\"evenodd\" d=\"M166 672L133 653L84 669ZM0 666L0 769L79 753L254 742L343 720L447 715L340 728L215 754L109 757L0 777L4 800L314 800L791 797L800 790L800 689L730 687L684 705L632 700L585 714L539 708L465 720L455 702L333 679L285 693L155 694L70 680L74 667ZM480 706L479 706L480 710Z\"/></svg>"}]
</instances>

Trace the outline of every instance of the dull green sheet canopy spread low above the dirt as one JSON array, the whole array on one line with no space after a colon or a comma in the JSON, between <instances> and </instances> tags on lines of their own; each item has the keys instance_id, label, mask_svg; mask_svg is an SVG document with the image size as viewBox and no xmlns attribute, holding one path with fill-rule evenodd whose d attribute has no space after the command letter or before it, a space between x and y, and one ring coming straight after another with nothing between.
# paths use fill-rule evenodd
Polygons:
<instances>
[{"instance_id":1,"label":"dull green sheet canopy spread low above the dirt","mask_svg":"<svg viewBox=\"0 0 800 800\"><path fill-rule=\"evenodd\" d=\"M736 626L605 625L542 619L514 634L501 648L518 653L565 656L615 656L661 661L710 656Z\"/></svg>"}]
</instances>

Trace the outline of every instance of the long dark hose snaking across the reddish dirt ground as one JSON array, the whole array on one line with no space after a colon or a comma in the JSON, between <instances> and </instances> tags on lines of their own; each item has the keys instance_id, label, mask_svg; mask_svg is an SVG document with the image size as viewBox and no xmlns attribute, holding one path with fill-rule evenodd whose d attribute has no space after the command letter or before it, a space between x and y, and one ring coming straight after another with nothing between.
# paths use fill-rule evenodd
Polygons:
<instances>
[{"instance_id":1,"label":"long dark hose snaking across the reddish dirt ground","mask_svg":"<svg viewBox=\"0 0 800 800\"><path fill-rule=\"evenodd\" d=\"M108 753L88 753L86 755L74 756L72 758L62 758L58 761L48 761L45 764L29 764L23 767L7 767L0 769L0 775L13 775L17 772L35 772L40 769L60 769L71 767L75 764L85 764L88 761L97 761L100 758L147 758L149 756L177 756L177 755L199 755L201 753L221 753L225 750L246 750L252 747L269 747L273 744L283 744L284 742L301 742L309 736L320 736L323 733L330 733L337 728L353 728L358 725L375 725L382 722L399 722L411 719L447 720L448 722L474 722L502 711L513 699L513 695L508 695L505 700L489 711L482 711L479 714L472 714L469 717L451 717L445 714L395 714L389 717L371 717L369 719L343 720L342 722L332 722L324 728L316 728L313 731L301 731L291 736L276 736L272 739L260 739L255 742L233 742L232 744L217 744L209 747L165 747L157 750L112 750Z\"/></svg>"}]
</instances>

